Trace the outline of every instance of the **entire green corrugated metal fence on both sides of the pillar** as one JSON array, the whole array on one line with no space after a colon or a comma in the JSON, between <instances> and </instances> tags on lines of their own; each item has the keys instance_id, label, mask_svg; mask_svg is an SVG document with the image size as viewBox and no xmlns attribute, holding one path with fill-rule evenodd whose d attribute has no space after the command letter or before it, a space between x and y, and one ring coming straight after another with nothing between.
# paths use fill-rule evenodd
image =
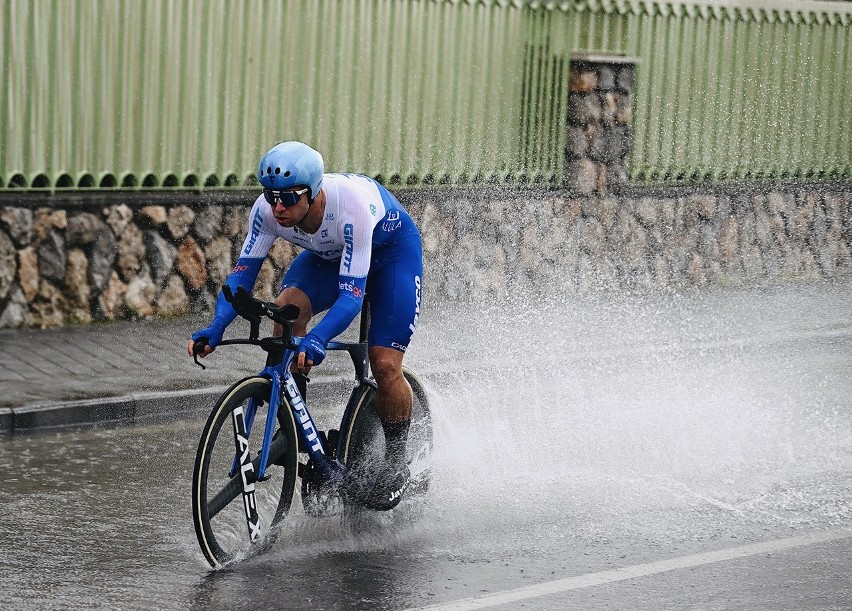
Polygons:
<instances>
[{"instance_id":1,"label":"entire green corrugated metal fence on both sides of the pillar","mask_svg":"<svg viewBox=\"0 0 852 611\"><path fill-rule=\"evenodd\" d=\"M634 180L852 176L852 7L4 0L0 189L227 188L301 139L389 184L562 180L570 54L640 59Z\"/></svg>"}]
</instances>

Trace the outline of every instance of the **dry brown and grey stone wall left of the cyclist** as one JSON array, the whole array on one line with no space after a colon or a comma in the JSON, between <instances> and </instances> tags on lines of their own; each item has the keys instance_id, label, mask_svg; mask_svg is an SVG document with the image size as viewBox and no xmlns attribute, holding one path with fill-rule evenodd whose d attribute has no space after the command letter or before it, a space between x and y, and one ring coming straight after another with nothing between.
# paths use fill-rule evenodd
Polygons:
<instances>
[{"instance_id":1,"label":"dry brown and grey stone wall left of the cyclist","mask_svg":"<svg viewBox=\"0 0 852 611\"><path fill-rule=\"evenodd\" d=\"M247 205L0 208L0 328L207 310L236 261ZM295 256L279 241L258 293Z\"/></svg>"}]
</instances>

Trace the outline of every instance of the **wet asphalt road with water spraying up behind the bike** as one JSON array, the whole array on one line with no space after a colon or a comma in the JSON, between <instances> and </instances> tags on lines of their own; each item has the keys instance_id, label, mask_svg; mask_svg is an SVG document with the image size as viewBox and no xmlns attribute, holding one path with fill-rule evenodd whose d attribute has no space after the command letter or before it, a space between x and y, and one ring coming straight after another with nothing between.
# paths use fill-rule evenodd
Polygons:
<instances>
[{"instance_id":1,"label":"wet asphalt road with water spraying up behind the bike","mask_svg":"<svg viewBox=\"0 0 852 611\"><path fill-rule=\"evenodd\" d=\"M0 602L852 608L852 283L479 304L418 333L424 507L359 534L296 515L213 572L189 513L201 416L19 436Z\"/></svg>"}]
</instances>

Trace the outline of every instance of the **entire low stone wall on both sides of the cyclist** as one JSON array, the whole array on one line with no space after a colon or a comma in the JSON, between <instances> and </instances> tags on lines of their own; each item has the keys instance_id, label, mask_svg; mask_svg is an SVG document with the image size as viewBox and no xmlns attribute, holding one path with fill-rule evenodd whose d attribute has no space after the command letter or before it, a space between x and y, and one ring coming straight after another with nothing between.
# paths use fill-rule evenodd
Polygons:
<instances>
[{"instance_id":1,"label":"entire low stone wall on both sides of the cyclist","mask_svg":"<svg viewBox=\"0 0 852 611\"><path fill-rule=\"evenodd\" d=\"M423 234L427 294L454 300L852 273L849 187L400 196ZM238 256L250 201L0 206L0 327L209 310ZM273 297L295 254L276 243L258 295Z\"/></svg>"}]
</instances>

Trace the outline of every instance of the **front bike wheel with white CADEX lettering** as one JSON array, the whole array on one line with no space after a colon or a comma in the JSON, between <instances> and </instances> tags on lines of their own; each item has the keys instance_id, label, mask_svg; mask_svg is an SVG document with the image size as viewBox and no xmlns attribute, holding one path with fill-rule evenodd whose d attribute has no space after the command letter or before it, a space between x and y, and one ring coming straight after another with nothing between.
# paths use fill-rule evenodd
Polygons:
<instances>
[{"instance_id":1,"label":"front bike wheel with white CADEX lettering","mask_svg":"<svg viewBox=\"0 0 852 611\"><path fill-rule=\"evenodd\" d=\"M264 478L257 478L271 391L272 382L266 378L237 382L219 399L201 434L192 517L201 551L213 567L269 543L270 529L293 501L299 450L286 404L278 410Z\"/></svg>"}]
</instances>

